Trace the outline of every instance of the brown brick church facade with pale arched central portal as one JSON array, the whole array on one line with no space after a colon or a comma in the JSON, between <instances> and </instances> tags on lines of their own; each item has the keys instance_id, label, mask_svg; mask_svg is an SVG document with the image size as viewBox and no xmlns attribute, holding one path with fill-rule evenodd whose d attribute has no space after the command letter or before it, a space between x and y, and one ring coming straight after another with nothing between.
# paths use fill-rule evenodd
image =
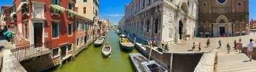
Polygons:
<instances>
[{"instance_id":1,"label":"brown brick church facade with pale arched central portal","mask_svg":"<svg viewBox=\"0 0 256 72\"><path fill-rule=\"evenodd\" d=\"M200 36L240 36L249 31L249 0L199 0Z\"/></svg>"}]
</instances>

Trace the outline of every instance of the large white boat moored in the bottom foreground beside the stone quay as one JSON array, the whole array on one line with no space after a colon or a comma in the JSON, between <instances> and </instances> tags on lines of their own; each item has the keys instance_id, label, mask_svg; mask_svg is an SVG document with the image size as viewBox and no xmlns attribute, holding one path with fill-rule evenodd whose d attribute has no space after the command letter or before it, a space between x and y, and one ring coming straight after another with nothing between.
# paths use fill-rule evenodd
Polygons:
<instances>
[{"instance_id":1,"label":"large white boat moored in the bottom foreground beside the stone quay","mask_svg":"<svg viewBox=\"0 0 256 72\"><path fill-rule=\"evenodd\" d=\"M148 60L140 53L130 53L129 56L136 72L168 72L163 66L154 60Z\"/></svg>"}]
</instances>

